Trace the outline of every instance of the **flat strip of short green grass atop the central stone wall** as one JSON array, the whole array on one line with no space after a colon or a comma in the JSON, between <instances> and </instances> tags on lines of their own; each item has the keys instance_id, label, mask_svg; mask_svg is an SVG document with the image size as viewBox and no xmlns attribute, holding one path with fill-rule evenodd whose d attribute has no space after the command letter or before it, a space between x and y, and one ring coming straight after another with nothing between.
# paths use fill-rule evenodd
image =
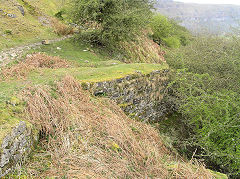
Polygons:
<instances>
[{"instance_id":1,"label":"flat strip of short green grass atop the central stone wall","mask_svg":"<svg viewBox=\"0 0 240 179\"><path fill-rule=\"evenodd\" d=\"M137 71L143 74L148 74L154 70L167 69L166 64L145 64L145 63L135 63L135 64L119 64L110 67L102 68L62 68L62 69L43 69L41 71L35 71L30 76L29 79L35 83L46 83L47 81L52 81L56 79L61 79L66 75L71 75L77 80L82 82L99 82L99 81L110 81L117 78L122 78L129 74L134 74Z\"/></svg>"}]
</instances>

